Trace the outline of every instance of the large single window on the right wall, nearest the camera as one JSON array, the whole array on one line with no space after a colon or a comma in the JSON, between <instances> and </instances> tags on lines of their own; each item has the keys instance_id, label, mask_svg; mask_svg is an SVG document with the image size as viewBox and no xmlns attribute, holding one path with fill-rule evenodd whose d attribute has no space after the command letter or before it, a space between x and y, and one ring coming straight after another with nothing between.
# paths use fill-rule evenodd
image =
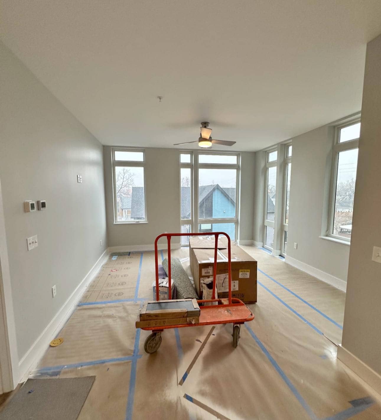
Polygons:
<instances>
[{"instance_id":1,"label":"large single window on the right wall, nearest the camera","mask_svg":"<svg viewBox=\"0 0 381 420\"><path fill-rule=\"evenodd\" d=\"M350 241L360 121L336 129L328 235Z\"/></svg>"}]
</instances>

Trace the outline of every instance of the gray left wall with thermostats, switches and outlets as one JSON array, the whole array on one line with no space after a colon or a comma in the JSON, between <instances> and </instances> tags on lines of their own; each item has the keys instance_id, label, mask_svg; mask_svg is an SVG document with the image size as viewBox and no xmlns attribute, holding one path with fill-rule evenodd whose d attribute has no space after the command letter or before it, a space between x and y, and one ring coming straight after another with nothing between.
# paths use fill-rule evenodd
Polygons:
<instances>
[{"instance_id":1,"label":"gray left wall with thermostats, switches and outlets","mask_svg":"<svg viewBox=\"0 0 381 420\"><path fill-rule=\"evenodd\" d=\"M0 56L0 179L21 358L106 249L103 159L95 137L2 43ZM24 213L27 199L47 209Z\"/></svg>"}]
</instances>

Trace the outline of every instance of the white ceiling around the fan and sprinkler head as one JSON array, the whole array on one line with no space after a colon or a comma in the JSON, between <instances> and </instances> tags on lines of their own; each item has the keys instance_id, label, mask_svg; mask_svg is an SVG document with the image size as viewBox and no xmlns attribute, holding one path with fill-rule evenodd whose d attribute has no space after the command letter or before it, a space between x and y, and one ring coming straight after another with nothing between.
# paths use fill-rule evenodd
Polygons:
<instances>
[{"instance_id":1,"label":"white ceiling around the fan and sprinkler head","mask_svg":"<svg viewBox=\"0 0 381 420\"><path fill-rule=\"evenodd\" d=\"M1 6L4 43L110 145L173 147L210 121L229 150L260 150L354 113L381 32L380 0Z\"/></svg>"}]
</instances>

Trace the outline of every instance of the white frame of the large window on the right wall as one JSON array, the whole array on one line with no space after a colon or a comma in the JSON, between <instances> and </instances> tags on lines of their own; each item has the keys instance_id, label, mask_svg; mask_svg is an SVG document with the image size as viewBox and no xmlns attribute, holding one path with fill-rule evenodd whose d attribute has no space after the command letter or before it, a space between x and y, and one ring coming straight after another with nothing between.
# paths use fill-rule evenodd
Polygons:
<instances>
[{"instance_id":1,"label":"white frame of the large window on the right wall","mask_svg":"<svg viewBox=\"0 0 381 420\"><path fill-rule=\"evenodd\" d=\"M360 137L357 139L348 140L346 142L339 142L340 140L340 130L345 127L352 126L354 124L361 123L361 117L351 119L346 121L343 124L340 124L335 127L335 136L334 136L334 145L332 153L332 169L331 169L331 186L329 192L329 209L328 209L328 226L326 231L326 236L337 241L344 241L350 244L351 239L346 238L345 236L335 235L332 232L334 231L334 216L335 216L335 202L336 202L336 188L337 188L337 174L339 170L339 153L345 152L347 150L358 149ZM360 126L361 131L361 126ZM357 173L357 168L356 168Z\"/></svg>"}]
</instances>

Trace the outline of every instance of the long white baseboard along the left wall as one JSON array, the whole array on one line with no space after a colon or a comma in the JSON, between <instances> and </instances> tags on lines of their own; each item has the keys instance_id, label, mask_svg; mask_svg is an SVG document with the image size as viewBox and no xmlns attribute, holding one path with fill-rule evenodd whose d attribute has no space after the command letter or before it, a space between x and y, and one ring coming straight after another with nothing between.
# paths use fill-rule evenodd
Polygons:
<instances>
[{"instance_id":1,"label":"long white baseboard along the left wall","mask_svg":"<svg viewBox=\"0 0 381 420\"><path fill-rule=\"evenodd\" d=\"M103 252L103 254L98 258L97 262L92 266L87 275L81 280L73 293L68 297L60 310L56 313L55 317L50 321L37 340L34 341L26 354L24 354L21 358L18 363L18 382L22 382L28 378L29 373L34 369L43 354L46 352L50 341L53 340L58 331L60 331L66 321L70 318L86 287L92 281L95 274L97 274L98 270L102 267L105 260L107 260L108 256L109 254L106 249L105 252Z\"/></svg>"}]
</instances>

